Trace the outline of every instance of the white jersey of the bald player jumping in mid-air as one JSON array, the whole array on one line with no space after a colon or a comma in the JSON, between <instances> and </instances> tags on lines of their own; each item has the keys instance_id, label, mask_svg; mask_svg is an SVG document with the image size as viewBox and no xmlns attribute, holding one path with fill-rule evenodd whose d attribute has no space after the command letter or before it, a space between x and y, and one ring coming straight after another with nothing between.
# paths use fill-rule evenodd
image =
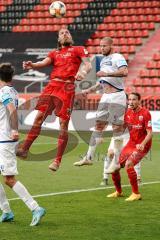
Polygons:
<instances>
[{"instance_id":1,"label":"white jersey of the bald player jumping in mid-air","mask_svg":"<svg viewBox=\"0 0 160 240\"><path fill-rule=\"evenodd\" d=\"M100 71L112 73L123 66L128 66L125 58L119 53L113 53L102 58L100 62ZM108 83L120 90L124 89L123 77L101 77L99 81L101 83Z\"/></svg>"}]
</instances>

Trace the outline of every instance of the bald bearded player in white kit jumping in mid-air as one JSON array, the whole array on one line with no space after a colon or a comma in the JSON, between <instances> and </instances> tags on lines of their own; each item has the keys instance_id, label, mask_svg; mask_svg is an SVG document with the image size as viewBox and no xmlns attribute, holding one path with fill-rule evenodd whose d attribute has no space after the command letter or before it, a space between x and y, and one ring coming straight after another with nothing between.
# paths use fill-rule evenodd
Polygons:
<instances>
[{"instance_id":1,"label":"bald bearded player in white kit jumping in mid-air","mask_svg":"<svg viewBox=\"0 0 160 240\"><path fill-rule=\"evenodd\" d=\"M118 158L121 149L119 137L123 132L124 113L126 109L126 94L124 92L124 77L128 74L127 62L119 53L113 53L113 40L105 37L100 42L103 59L100 63L100 71L97 72L99 81L83 94L95 92L98 88L103 89L96 114L96 126L93 131L86 156L75 162L75 166L93 164L93 157L97 145L102 140L102 133L108 124L112 124L114 137L114 158L108 168L108 173L119 168Z\"/></svg>"}]
</instances>

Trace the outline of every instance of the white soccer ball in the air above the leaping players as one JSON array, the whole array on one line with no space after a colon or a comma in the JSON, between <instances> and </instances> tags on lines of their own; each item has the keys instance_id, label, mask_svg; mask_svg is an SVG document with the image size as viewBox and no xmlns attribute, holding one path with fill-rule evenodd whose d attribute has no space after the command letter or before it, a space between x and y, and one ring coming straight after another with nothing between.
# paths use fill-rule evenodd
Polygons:
<instances>
[{"instance_id":1,"label":"white soccer ball in the air above the leaping players","mask_svg":"<svg viewBox=\"0 0 160 240\"><path fill-rule=\"evenodd\" d=\"M62 18L66 14L66 6L61 1L55 1L49 6L49 13L56 18Z\"/></svg>"}]
</instances>

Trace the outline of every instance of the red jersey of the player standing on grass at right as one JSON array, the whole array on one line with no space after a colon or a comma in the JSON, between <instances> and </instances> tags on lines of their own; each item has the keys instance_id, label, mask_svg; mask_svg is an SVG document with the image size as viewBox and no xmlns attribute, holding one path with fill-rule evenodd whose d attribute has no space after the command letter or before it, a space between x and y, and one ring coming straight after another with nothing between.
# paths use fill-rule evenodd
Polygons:
<instances>
[{"instance_id":1,"label":"red jersey of the player standing on grass at right","mask_svg":"<svg viewBox=\"0 0 160 240\"><path fill-rule=\"evenodd\" d=\"M128 108L124 118L125 124L130 133L130 141L140 144L147 135L147 129L152 130L151 114L146 108L140 108L137 112ZM151 145L151 140L146 147Z\"/></svg>"}]
</instances>

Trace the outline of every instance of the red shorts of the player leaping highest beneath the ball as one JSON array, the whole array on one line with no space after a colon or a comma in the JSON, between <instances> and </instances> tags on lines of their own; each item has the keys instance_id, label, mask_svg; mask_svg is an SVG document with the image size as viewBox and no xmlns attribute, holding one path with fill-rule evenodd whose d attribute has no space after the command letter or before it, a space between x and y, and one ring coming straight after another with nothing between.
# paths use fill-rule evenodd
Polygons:
<instances>
[{"instance_id":1,"label":"red shorts of the player leaping highest beneath the ball","mask_svg":"<svg viewBox=\"0 0 160 240\"><path fill-rule=\"evenodd\" d=\"M63 120L69 120L73 108L75 96L74 83L54 81L49 83L39 96L36 110L51 115L55 115Z\"/></svg>"}]
</instances>

